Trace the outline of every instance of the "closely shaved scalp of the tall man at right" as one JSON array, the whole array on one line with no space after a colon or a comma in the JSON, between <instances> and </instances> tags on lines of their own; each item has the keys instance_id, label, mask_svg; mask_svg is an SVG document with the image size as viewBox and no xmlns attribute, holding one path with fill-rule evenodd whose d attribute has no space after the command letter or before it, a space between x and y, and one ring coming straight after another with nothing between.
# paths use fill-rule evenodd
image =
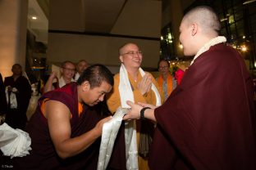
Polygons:
<instances>
[{"instance_id":1,"label":"closely shaved scalp of the tall man at right","mask_svg":"<svg viewBox=\"0 0 256 170\"><path fill-rule=\"evenodd\" d=\"M183 21L188 25L197 23L203 34L218 34L221 29L217 14L211 7L207 6L194 7L185 14Z\"/></svg>"}]
</instances>

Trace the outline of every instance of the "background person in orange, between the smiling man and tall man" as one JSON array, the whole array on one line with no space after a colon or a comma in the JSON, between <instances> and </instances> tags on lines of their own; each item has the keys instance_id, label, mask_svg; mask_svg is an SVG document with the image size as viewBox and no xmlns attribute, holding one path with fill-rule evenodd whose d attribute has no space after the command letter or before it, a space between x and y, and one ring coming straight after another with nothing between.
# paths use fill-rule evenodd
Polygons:
<instances>
[{"instance_id":1,"label":"background person in orange, between the smiling man and tall man","mask_svg":"<svg viewBox=\"0 0 256 170\"><path fill-rule=\"evenodd\" d=\"M169 71L170 63L168 60L159 60L158 71L159 77L157 78L159 88L161 89L162 95L164 96L164 101L170 96L172 90L176 87L176 80L171 76Z\"/></svg>"}]
</instances>

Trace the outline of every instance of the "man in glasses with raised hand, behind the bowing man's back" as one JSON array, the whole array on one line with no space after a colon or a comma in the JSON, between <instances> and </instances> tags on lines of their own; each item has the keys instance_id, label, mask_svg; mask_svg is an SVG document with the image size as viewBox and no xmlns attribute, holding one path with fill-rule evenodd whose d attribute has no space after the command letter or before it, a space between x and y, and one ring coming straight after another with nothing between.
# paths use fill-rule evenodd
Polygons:
<instances>
[{"instance_id":1,"label":"man in glasses with raised hand, behind the bowing man's back","mask_svg":"<svg viewBox=\"0 0 256 170\"><path fill-rule=\"evenodd\" d=\"M61 78L57 78L57 73L55 72L49 76L48 81L45 83L43 88L43 92L49 92L54 89L63 87L67 83L75 82L73 79L75 75L75 64L70 60L66 60L62 63L61 73ZM57 82L54 83L53 81L55 78L57 79Z\"/></svg>"}]
</instances>

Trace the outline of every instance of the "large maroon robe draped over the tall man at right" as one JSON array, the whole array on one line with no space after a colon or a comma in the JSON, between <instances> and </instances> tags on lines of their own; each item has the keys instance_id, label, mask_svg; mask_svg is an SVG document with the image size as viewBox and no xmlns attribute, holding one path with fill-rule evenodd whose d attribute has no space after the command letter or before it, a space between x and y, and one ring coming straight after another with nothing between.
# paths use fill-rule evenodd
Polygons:
<instances>
[{"instance_id":1,"label":"large maroon robe draped over the tall man at right","mask_svg":"<svg viewBox=\"0 0 256 170\"><path fill-rule=\"evenodd\" d=\"M210 47L155 110L150 169L255 170L253 94L240 54Z\"/></svg>"}]
</instances>

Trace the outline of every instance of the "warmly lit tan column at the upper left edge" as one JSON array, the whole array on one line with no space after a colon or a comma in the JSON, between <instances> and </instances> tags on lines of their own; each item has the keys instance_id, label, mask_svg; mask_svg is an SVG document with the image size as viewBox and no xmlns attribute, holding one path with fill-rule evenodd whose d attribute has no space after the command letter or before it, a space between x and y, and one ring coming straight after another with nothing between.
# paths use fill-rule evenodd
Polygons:
<instances>
[{"instance_id":1,"label":"warmly lit tan column at the upper left edge","mask_svg":"<svg viewBox=\"0 0 256 170\"><path fill-rule=\"evenodd\" d=\"M15 63L25 69L28 0L0 1L0 72L10 76Z\"/></svg>"}]
</instances>

